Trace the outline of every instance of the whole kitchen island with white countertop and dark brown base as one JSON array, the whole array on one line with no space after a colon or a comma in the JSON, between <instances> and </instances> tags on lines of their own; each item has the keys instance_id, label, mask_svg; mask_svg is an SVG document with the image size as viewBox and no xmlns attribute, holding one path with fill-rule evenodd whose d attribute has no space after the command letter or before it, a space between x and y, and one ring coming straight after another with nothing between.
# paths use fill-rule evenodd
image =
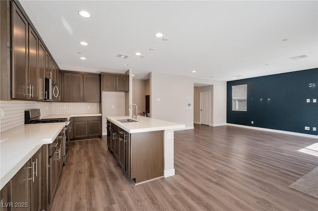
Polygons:
<instances>
[{"instance_id":1,"label":"whole kitchen island with white countertop and dark brown base","mask_svg":"<svg viewBox=\"0 0 318 211\"><path fill-rule=\"evenodd\" d=\"M174 175L173 132L185 125L142 116L137 122L118 121L129 116L106 119L108 148L136 184Z\"/></svg>"}]
</instances>

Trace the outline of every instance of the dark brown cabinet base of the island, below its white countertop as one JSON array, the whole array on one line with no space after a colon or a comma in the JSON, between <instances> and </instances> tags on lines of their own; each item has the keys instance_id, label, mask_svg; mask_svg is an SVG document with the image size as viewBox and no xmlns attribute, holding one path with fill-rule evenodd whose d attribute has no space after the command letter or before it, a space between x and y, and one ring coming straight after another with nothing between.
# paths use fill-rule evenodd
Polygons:
<instances>
[{"instance_id":1,"label":"dark brown cabinet base of the island, below its white countertop","mask_svg":"<svg viewBox=\"0 0 318 211\"><path fill-rule=\"evenodd\" d=\"M110 128L108 148L129 178L140 183L163 176L163 131L129 134L113 123Z\"/></svg>"}]
</instances>

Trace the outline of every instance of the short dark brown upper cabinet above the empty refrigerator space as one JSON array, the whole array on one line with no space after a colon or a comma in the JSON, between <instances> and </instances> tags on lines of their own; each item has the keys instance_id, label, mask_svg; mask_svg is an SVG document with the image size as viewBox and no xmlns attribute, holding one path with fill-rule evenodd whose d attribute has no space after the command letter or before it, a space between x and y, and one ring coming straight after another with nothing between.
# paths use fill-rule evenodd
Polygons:
<instances>
[{"instance_id":1,"label":"short dark brown upper cabinet above the empty refrigerator space","mask_svg":"<svg viewBox=\"0 0 318 211\"><path fill-rule=\"evenodd\" d=\"M101 73L103 91L129 91L129 75Z\"/></svg>"}]
</instances>

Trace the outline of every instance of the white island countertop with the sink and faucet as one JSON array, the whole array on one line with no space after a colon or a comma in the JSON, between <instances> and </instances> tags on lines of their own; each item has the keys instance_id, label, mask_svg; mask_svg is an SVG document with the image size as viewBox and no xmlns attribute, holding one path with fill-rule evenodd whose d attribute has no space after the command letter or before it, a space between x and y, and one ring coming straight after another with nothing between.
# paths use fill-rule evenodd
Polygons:
<instances>
[{"instance_id":1,"label":"white island countertop with the sink and faucet","mask_svg":"<svg viewBox=\"0 0 318 211\"><path fill-rule=\"evenodd\" d=\"M150 131L164 131L164 130L175 130L185 128L185 125L168 122L164 120L149 118L139 116L138 122L126 122L121 123L117 121L118 119L131 119L129 116L116 116L116 117L106 117L107 120L113 124L119 126L123 130L127 131L130 134L133 133L142 133Z\"/></svg>"}]
</instances>

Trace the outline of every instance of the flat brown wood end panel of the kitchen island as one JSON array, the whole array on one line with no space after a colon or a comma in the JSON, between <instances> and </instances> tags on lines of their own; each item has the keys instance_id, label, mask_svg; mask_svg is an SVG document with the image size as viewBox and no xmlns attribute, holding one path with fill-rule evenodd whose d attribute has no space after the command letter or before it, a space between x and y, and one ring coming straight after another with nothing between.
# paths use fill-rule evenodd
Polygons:
<instances>
[{"instance_id":1,"label":"flat brown wood end panel of the kitchen island","mask_svg":"<svg viewBox=\"0 0 318 211\"><path fill-rule=\"evenodd\" d=\"M163 131L131 134L130 163L136 183L163 176Z\"/></svg>"}]
</instances>

